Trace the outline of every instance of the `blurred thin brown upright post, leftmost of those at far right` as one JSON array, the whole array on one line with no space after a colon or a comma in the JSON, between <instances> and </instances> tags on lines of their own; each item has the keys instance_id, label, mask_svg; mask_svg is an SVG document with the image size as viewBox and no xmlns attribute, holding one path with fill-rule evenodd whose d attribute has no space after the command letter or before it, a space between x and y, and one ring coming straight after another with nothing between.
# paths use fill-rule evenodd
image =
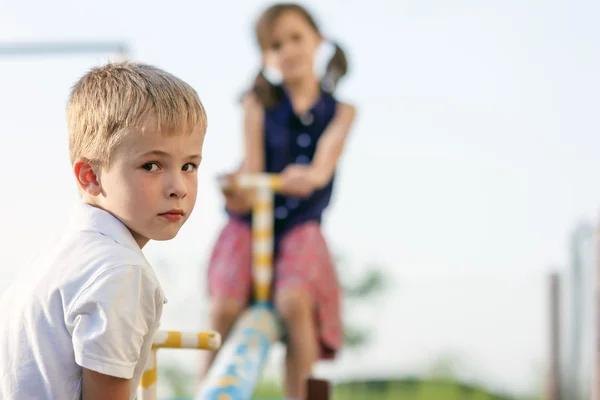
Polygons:
<instances>
[{"instance_id":1,"label":"blurred thin brown upright post, leftmost of those at far right","mask_svg":"<svg viewBox=\"0 0 600 400\"><path fill-rule=\"evenodd\" d=\"M547 400L563 400L560 374L560 276L550 274L550 376Z\"/></svg>"}]
</instances>

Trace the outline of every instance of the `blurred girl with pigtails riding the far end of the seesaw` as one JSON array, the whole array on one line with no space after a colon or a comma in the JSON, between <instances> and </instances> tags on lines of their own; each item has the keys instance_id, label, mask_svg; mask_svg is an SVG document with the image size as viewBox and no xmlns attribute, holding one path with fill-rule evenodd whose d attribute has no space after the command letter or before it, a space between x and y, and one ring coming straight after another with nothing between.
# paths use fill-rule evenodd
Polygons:
<instances>
[{"instance_id":1,"label":"blurred girl with pigtails riding the far end of the seesaw","mask_svg":"<svg viewBox=\"0 0 600 400\"><path fill-rule=\"evenodd\" d=\"M324 40L305 8L269 7L256 35L263 69L242 100L240 171L281 174L282 194L274 203L274 304L287 328L285 392L305 399L313 364L333 358L342 344L340 289L320 225L355 110L332 94L346 73L345 55ZM315 58L328 49L330 61L320 74ZM237 191L225 197L230 218L208 270L212 329L222 335L251 301L252 286L251 196Z\"/></svg>"}]
</instances>

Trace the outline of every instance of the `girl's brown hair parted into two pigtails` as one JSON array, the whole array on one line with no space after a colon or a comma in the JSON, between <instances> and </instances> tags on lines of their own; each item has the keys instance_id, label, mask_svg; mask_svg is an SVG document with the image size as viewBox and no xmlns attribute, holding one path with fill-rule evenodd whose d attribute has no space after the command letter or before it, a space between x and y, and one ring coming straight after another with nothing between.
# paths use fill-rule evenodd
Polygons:
<instances>
[{"instance_id":1,"label":"girl's brown hair parted into two pigtails","mask_svg":"<svg viewBox=\"0 0 600 400\"><path fill-rule=\"evenodd\" d=\"M256 39L262 50L265 50L269 46L269 36L271 34L273 23L281 16L281 14L287 11L293 11L300 14L315 32L321 35L321 30L315 22L315 19L306 8L296 3L275 4L267 8L256 23ZM346 54L337 43L333 44L335 46L335 52L327 64L325 76L321 81L323 89L330 93L333 93L338 81L348 72L348 60L346 59ZM262 68L256 75L250 92L254 93L258 101L267 109L276 107L283 97L281 87L269 82L265 77Z\"/></svg>"}]
</instances>

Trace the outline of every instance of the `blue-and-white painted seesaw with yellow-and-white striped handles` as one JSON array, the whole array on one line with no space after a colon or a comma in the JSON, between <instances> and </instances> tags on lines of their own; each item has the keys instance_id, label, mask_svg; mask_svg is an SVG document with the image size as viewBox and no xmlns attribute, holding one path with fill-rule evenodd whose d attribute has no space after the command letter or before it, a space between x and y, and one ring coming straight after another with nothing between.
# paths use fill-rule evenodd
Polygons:
<instances>
[{"instance_id":1,"label":"blue-and-white painted seesaw with yellow-and-white striped handles","mask_svg":"<svg viewBox=\"0 0 600 400\"><path fill-rule=\"evenodd\" d=\"M270 300L273 281L273 197L280 188L280 179L275 174L240 174L234 181L220 178L219 183L223 189L232 188L233 185L255 192L252 204L252 277L255 302L234 324L195 399L250 400L269 352L283 333ZM194 337L198 339L195 340ZM159 332L154 342L152 357L138 390L138 400L157 399L156 350L217 350L221 344L221 337L214 332ZM311 378L307 381L307 389L310 400L329 399L327 381Z\"/></svg>"}]
</instances>

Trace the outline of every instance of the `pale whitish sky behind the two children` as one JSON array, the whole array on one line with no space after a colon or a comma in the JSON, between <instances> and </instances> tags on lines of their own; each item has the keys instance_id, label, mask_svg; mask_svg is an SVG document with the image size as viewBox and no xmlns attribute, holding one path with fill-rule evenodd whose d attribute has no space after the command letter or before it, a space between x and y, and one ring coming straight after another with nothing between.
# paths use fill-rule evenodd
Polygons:
<instances>
[{"instance_id":1,"label":"pale whitish sky behind the two children","mask_svg":"<svg viewBox=\"0 0 600 400\"><path fill-rule=\"evenodd\" d=\"M206 105L196 209L176 239L145 249L170 300L165 328L206 328L204 268L224 222L214 177L239 161L236 99L256 72L252 22L266 4L0 2L2 43L124 40ZM600 3L305 4L347 50L340 98L359 110L324 229L352 273L373 261L397 284L378 311L358 312L374 343L322 373L418 373L458 352L466 377L536 389L547 270L600 211ZM66 98L107 57L0 59L0 291L64 225L75 199Z\"/></svg>"}]
</instances>

